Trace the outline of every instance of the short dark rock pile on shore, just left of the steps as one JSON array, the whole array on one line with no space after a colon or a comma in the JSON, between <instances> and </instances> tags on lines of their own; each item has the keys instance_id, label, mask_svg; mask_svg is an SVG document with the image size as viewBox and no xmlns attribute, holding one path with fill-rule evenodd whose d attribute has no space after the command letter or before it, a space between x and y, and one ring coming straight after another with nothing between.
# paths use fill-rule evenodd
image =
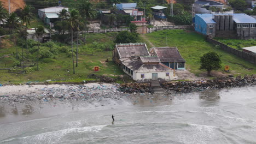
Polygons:
<instances>
[{"instance_id":1,"label":"short dark rock pile on shore, just left of the steps","mask_svg":"<svg viewBox=\"0 0 256 144\"><path fill-rule=\"evenodd\" d=\"M124 93L152 93L150 83L123 83L118 88L118 91Z\"/></svg>"}]
</instances>

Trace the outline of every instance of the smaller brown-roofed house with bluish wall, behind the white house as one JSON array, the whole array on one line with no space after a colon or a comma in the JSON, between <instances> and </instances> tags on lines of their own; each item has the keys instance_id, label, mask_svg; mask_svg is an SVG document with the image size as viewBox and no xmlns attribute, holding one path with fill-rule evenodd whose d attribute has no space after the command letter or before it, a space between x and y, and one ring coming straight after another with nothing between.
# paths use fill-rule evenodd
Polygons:
<instances>
[{"instance_id":1,"label":"smaller brown-roofed house with bluish wall, behind the white house","mask_svg":"<svg viewBox=\"0 0 256 144\"><path fill-rule=\"evenodd\" d=\"M158 56L160 62L169 68L176 70L185 69L186 61L182 58L177 47L153 47L149 52L154 56Z\"/></svg>"}]
</instances>

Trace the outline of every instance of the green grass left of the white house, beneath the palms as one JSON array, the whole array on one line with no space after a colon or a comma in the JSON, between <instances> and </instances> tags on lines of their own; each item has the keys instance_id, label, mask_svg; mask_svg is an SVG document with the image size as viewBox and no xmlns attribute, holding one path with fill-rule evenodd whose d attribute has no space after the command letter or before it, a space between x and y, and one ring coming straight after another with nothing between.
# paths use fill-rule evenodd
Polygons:
<instances>
[{"instance_id":1,"label":"green grass left of the white house, beneath the palms","mask_svg":"<svg viewBox=\"0 0 256 144\"><path fill-rule=\"evenodd\" d=\"M45 80L54 80L57 82L81 82L83 80L93 80L90 79L91 77L88 77L88 75L90 74L106 74L109 76L123 75L123 71L121 71L114 62L112 62L112 50L96 50L92 46L92 43L94 41L97 41L97 43L99 44L114 45L113 41L115 35L115 33L88 34L86 39L86 45L79 46L79 53L94 53L94 56L79 55L78 68L75 68L75 75L73 75L72 57L68 57L67 53L60 52L53 58L53 62L40 62L40 70L33 71L30 74L12 74L8 73L8 70L0 70L0 83L8 83L9 81L11 81L11 83L26 83L28 81L43 82ZM22 51L21 47L19 46L18 51L20 53ZM8 55L13 52L15 53L15 47L12 41L7 39L4 40L4 46L0 48L1 56ZM109 60L108 63L105 63L106 59ZM14 58L14 56L0 58L0 69L13 67L15 61L17 60ZM32 64L32 62L29 63ZM94 72L95 66L100 67L100 71Z\"/></svg>"}]
</instances>

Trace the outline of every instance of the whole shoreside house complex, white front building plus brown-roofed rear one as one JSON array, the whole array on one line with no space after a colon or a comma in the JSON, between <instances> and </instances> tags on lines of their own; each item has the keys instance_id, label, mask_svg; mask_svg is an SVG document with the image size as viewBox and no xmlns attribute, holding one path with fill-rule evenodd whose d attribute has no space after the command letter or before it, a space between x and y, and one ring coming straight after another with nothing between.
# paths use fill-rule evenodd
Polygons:
<instances>
[{"instance_id":1,"label":"whole shoreside house complex, white front building plus brown-roofed rear one","mask_svg":"<svg viewBox=\"0 0 256 144\"><path fill-rule=\"evenodd\" d=\"M172 80L174 68L185 69L176 47L153 47L149 52L144 43L115 45L113 61L136 81Z\"/></svg>"}]
</instances>

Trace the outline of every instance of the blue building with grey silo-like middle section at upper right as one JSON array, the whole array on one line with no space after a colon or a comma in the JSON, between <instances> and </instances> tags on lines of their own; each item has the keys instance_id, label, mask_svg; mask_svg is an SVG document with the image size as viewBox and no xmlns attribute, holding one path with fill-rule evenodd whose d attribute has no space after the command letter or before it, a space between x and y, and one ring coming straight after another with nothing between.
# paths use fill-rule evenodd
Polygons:
<instances>
[{"instance_id":1,"label":"blue building with grey silo-like middle section at upper right","mask_svg":"<svg viewBox=\"0 0 256 144\"><path fill-rule=\"evenodd\" d=\"M208 37L256 39L256 20L246 14L195 14L195 31Z\"/></svg>"}]
</instances>

